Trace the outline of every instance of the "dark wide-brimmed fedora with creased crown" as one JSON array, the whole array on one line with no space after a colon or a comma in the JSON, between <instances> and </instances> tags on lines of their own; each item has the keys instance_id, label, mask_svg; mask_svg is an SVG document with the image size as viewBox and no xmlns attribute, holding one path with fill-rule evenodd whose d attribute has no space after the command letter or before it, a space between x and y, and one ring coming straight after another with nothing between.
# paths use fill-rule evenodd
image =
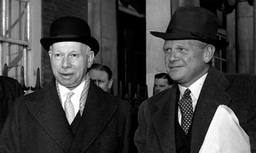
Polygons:
<instances>
[{"instance_id":1,"label":"dark wide-brimmed fedora with creased crown","mask_svg":"<svg viewBox=\"0 0 256 153\"><path fill-rule=\"evenodd\" d=\"M150 32L164 40L199 40L212 44L217 50L226 48L227 41L217 39L218 22L211 11L194 6L178 7L165 33Z\"/></svg>"}]
</instances>

